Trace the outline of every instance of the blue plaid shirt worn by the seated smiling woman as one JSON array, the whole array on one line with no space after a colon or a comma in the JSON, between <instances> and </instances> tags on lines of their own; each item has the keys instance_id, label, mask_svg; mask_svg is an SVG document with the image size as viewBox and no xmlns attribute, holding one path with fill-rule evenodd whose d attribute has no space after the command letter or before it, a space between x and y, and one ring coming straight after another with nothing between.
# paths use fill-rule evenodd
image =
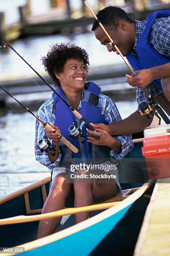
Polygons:
<instances>
[{"instance_id":1,"label":"blue plaid shirt worn by the seated smiling woman","mask_svg":"<svg viewBox=\"0 0 170 256\"><path fill-rule=\"evenodd\" d=\"M80 100L80 104L78 107L78 110L81 109L82 102L84 99L85 90L82 90L82 97ZM117 110L117 107L112 100L105 96L100 94L99 95L99 108L100 111L105 118L105 120L108 121L109 124L119 122L122 120L120 117L120 114ZM58 108L60 106L58 105ZM55 122L55 102L53 98L50 98L50 100L47 100L45 103L42 104L40 109L37 113L38 117L40 117L44 122L53 124ZM59 151L59 156L55 160L54 163L51 163L50 158L46 152L41 152L37 149L37 142L42 138L42 136L45 135L44 128L41 127L41 123L39 120L36 120L35 125L35 159L39 161L41 164L47 166L48 169L53 169L54 167L57 167L60 164L61 161L61 152ZM119 139L122 143L122 151L120 153L115 152L113 150L110 151L110 156L113 156L117 159L123 158L129 151L133 149L133 141L131 135L122 135L122 136L114 136L115 138Z\"/></svg>"}]
</instances>

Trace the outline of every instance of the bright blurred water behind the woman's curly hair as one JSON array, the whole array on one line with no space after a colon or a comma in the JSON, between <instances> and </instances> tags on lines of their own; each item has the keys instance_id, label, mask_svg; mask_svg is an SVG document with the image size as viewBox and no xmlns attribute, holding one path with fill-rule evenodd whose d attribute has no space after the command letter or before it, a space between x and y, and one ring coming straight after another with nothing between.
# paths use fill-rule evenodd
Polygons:
<instances>
[{"instance_id":1,"label":"bright blurred water behind the woman's curly hair","mask_svg":"<svg viewBox=\"0 0 170 256\"><path fill-rule=\"evenodd\" d=\"M43 73L45 71L40 65L41 57L46 56L50 45L61 42L70 42L84 48L89 54L90 67L123 64L121 57L116 53L109 53L106 46L102 46L96 40L94 33L30 37L24 40L17 40L12 46L32 67ZM0 50L0 74L1 80L7 77L35 76L33 71L8 46L6 46L5 50Z\"/></svg>"}]
</instances>

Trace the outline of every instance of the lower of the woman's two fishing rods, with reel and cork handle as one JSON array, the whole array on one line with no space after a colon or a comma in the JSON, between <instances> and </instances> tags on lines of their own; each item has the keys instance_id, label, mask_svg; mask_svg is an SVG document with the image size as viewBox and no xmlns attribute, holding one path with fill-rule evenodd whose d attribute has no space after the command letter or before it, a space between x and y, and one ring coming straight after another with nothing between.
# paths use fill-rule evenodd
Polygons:
<instances>
[{"instance_id":1,"label":"lower of the woman's two fishing rods, with reel and cork handle","mask_svg":"<svg viewBox=\"0 0 170 256\"><path fill-rule=\"evenodd\" d=\"M35 118L37 118L37 120L39 120L41 123L42 123L42 125L45 127L45 128L51 128L51 129L53 129L52 127L51 127L51 125L49 125L48 123L45 123L44 121L42 121L37 115L35 115L34 113L32 113L32 111L31 110L29 110L29 108L27 108L27 107L25 107L25 105L23 105L19 100L17 100L13 95L11 95L9 92L7 92L4 88L2 88L1 86L0 86L0 88L4 91L4 92L6 92L10 97L12 97L14 100L16 100L23 108L25 108L31 115L33 115ZM54 132L54 133L56 133L56 131ZM70 143L69 141L67 141L67 139L64 137L64 136L62 136L60 133L59 133L59 135L60 135L60 138L59 138L59 140L60 141L62 141L62 143L64 143L68 148L70 148L70 150L72 150L74 153L77 153L78 152L78 149L74 146L74 145L72 145L72 143ZM46 143L46 144L45 144ZM55 155L55 145L53 146L53 144L49 144L50 142L47 140L47 137L45 138L45 141L43 141L42 139L39 141L39 143L38 143L38 146L40 147L40 146L42 146L42 147L40 147L40 148L42 148L42 152L43 151L47 151L47 153L49 153L49 154L53 154L52 156L54 156ZM39 148L39 149L40 149ZM51 153L50 153L51 152Z\"/></svg>"}]
</instances>

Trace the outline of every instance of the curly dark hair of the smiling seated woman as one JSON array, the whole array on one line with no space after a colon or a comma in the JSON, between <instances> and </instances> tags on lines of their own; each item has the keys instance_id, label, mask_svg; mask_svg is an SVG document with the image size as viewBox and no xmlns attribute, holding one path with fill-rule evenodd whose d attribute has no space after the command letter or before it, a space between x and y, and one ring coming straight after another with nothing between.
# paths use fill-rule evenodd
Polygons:
<instances>
[{"instance_id":1,"label":"curly dark hair of the smiling seated woman","mask_svg":"<svg viewBox=\"0 0 170 256\"><path fill-rule=\"evenodd\" d=\"M55 87L60 87L60 82L55 76L55 72L62 72L65 62L68 59L77 59L83 61L86 67L86 71L89 66L89 56L87 52L81 47L70 43L54 44L50 46L50 50L47 52L47 57L42 57L42 65L45 71L49 74Z\"/></svg>"}]
</instances>

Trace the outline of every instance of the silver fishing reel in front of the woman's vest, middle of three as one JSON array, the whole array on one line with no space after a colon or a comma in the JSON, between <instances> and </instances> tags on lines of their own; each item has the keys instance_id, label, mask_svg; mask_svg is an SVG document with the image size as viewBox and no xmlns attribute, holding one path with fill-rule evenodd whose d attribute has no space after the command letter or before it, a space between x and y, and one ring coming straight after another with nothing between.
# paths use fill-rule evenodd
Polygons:
<instances>
[{"instance_id":1,"label":"silver fishing reel in front of the woman's vest, middle of three","mask_svg":"<svg viewBox=\"0 0 170 256\"><path fill-rule=\"evenodd\" d=\"M92 136L89 134L82 134L82 126L85 124L85 122L83 121L79 127L79 125L77 123L73 123L69 128L68 131L70 132L69 136L72 138L77 138L78 141L80 141L81 143L85 142L85 139L83 137L92 137L95 139L99 139L99 136Z\"/></svg>"}]
</instances>

